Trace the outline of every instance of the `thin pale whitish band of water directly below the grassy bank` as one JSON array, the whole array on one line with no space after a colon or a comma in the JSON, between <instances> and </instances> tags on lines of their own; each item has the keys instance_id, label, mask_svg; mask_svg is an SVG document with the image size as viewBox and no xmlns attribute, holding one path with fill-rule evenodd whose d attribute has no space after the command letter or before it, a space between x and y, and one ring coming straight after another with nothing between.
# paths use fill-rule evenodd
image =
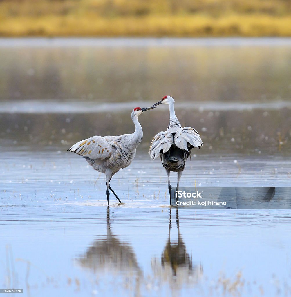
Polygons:
<instances>
[{"instance_id":1,"label":"thin pale whitish band of water directly below the grassy bank","mask_svg":"<svg viewBox=\"0 0 291 297\"><path fill-rule=\"evenodd\" d=\"M10 47L241 47L291 46L291 37L1 37Z\"/></svg>"}]
</instances>

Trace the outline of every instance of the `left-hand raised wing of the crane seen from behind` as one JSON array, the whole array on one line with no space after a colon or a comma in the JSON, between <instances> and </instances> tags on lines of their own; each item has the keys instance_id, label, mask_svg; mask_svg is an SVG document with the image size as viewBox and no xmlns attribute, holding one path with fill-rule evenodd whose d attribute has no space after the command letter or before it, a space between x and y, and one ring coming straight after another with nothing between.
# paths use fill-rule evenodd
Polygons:
<instances>
[{"instance_id":1,"label":"left-hand raised wing of the crane seen from behind","mask_svg":"<svg viewBox=\"0 0 291 297\"><path fill-rule=\"evenodd\" d=\"M160 153L166 153L173 144L174 137L172 133L166 131L155 135L149 150L151 160L157 158Z\"/></svg>"}]
</instances>

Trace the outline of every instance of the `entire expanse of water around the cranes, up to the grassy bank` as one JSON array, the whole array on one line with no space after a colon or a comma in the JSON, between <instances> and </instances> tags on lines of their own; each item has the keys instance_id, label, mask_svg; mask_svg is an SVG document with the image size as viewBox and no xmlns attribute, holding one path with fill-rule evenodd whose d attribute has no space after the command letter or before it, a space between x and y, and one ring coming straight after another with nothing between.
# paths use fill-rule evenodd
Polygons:
<instances>
[{"instance_id":1,"label":"entire expanse of water around the cranes, up to the grassy bank","mask_svg":"<svg viewBox=\"0 0 291 297\"><path fill-rule=\"evenodd\" d=\"M181 186L290 186L290 50L290 39L0 40L0 287L291 295L289 210L170 208L166 173L147 155L166 107L139 118L136 158L111 181L121 205L111 194L107 208L105 176L67 152L132 132L133 107L172 94L204 142Z\"/></svg>"}]
</instances>

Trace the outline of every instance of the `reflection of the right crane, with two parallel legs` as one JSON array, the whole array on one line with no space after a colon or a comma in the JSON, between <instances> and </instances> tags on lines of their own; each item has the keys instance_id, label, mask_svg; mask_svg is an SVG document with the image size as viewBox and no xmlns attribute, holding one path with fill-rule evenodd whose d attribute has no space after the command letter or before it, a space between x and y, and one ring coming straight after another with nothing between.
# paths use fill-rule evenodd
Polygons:
<instances>
[{"instance_id":1,"label":"reflection of the right crane, with two parallel legs","mask_svg":"<svg viewBox=\"0 0 291 297\"><path fill-rule=\"evenodd\" d=\"M170 208L169 237L161 255L161 260L152 258L152 270L155 277L164 282L169 282L173 290L180 289L183 284L193 285L202 277L203 266L192 263L192 254L186 250L185 243L180 233L179 214L176 208L177 235L171 237L172 209ZM174 239L174 240L173 240Z\"/></svg>"}]
</instances>

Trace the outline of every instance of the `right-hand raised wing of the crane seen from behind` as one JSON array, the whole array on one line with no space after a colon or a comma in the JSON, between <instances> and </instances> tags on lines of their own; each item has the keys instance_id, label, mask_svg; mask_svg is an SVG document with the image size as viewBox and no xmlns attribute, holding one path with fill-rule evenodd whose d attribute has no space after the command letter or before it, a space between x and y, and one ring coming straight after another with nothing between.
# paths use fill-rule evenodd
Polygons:
<instances>
[{"instance_id":1,"label":"right-hand raised wing of the crane seen from behind","mask_svg":"<svg viewBox=\"0 0 291 297\"><path fill-rule=\"evenodd\" d=\"M178 148L186 151L189 151L193 147L200 149L203 145L200 135L191 127L184 127L180 131L176 132L174 142Z\"/></svg>"}]
</instances>

